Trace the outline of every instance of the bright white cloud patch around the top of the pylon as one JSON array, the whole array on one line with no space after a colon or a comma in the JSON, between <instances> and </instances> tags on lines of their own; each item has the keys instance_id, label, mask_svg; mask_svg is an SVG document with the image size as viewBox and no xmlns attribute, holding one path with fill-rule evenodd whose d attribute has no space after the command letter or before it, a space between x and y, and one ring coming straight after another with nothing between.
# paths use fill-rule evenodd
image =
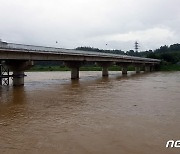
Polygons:
<instances>
[{"instance_id":1,"label":"bright white cloud patch around the top of the pylon","mask_svg":"<svg viewBox=\"0 0 180 154\"><path fill-rule=\"evenodd\" d=\"M158 48L162 42L164 44L170 44L175 39L175 34L170 29L166 28L152 28L140 31L130 31L122 34L104 35L94 38L99 42L109 42L108 44L129 44L130 47L124 47L125 50L133 49L134 42L138 41L141 46L141 50L148 50L152 48Z\"/></svg>"}]
</instances>

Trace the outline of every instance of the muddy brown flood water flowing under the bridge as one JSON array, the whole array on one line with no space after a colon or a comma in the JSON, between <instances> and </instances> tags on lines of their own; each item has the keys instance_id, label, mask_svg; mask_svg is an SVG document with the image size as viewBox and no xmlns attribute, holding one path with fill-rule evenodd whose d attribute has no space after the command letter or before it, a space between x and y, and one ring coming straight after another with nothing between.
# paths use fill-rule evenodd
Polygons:
<instances>
[{"instance_id":1,"label":"muddy brown flood water flowing under the bridge","mask_svg":"<svg viewBox=\"0 0 180 154\"><path fill-rule=\"evenodd\" d=\"M26 74L0 87L0 154L180 153L180 72Z\"/></svg>"}]
</instances>

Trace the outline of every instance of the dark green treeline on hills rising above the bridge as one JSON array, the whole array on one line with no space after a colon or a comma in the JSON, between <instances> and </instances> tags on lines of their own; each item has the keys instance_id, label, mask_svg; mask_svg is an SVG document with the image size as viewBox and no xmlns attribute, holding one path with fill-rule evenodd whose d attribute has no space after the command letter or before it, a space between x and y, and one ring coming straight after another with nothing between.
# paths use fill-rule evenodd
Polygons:
<instances>
[{"instance_id":1,"label":"dark green treeline on hills rising above the bridge","mask_svg":"<svg viewBox=\"0 0 180 154\"><path fill-rule=\"evenodd\" d=\"M142 51L142 52L135 52L134 50L129 50L126 52L122 50L103 50L103 49L98 49L98 48L93 48L93 47L77 47L76 50L154 58L154 59L160 59L164 62L171 63L171 64L180 63L180 44L178 43L170 45L170 46L164 45L154 51L148 50L148 51Z\"/></svg>"}]
</instances>

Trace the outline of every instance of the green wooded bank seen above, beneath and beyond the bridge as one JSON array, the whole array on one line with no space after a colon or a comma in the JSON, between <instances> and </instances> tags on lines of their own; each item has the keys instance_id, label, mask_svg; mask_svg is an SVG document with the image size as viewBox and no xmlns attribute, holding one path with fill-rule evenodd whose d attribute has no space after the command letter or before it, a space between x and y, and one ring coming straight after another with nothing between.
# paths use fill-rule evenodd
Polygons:
<instances>
[{"instance_id":1,"label":"green wooded bank seen above, beneath and beyond the bridge","mask_svg":"<svg viewBox=\"0 0 180 154\"><path fill-rule=\"evenodd\" d=\"M160 59L161 64L160 71L180 71L180 44L172 44L170 46L164 45L155 50L148 51L122 51L122 50L103 50L94 47L77 47L76 50L102 52L111 54L120 54L128 56L137 56L145 58ZM36 61L36 66L31 70L34 71L67 71L69 68L63 65L61 61ZM87 67L88 66L88 67ZM86 67L82 67L81 70L101 70L100 67L94 66L94 63L87 63ZM119 70L117 66L113 66L110 70ZM132 68L130 70L133 70Z\"/></svg>"}]
</instances>

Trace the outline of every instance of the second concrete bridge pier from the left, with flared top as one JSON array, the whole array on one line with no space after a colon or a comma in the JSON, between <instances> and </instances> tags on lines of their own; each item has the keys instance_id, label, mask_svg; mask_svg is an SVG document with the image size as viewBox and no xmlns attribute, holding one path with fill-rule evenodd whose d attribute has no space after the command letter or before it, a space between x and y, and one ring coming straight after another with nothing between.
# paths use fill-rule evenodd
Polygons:
<instances>
[{"instance_id":1,"label":"second concrete bridge pier from the left, with flared top","mask_svg":"<svg viewBox=\"0 0 180 154\"><path fill-rule=\"evenodd\" d=\"M71 69L71 79L79 79L79 68L82 66L81 61L65 61L67 67Z\"/></svg>"}]
</instances>

